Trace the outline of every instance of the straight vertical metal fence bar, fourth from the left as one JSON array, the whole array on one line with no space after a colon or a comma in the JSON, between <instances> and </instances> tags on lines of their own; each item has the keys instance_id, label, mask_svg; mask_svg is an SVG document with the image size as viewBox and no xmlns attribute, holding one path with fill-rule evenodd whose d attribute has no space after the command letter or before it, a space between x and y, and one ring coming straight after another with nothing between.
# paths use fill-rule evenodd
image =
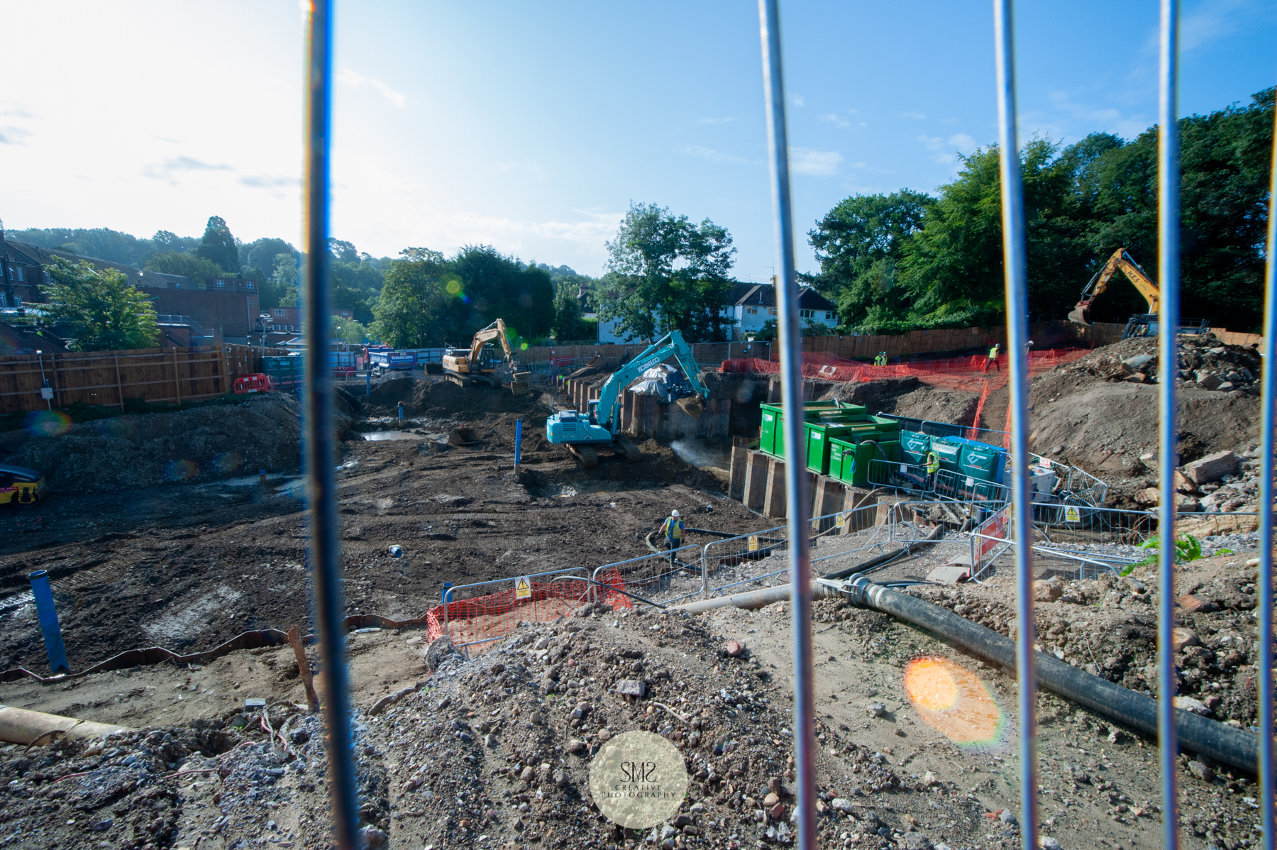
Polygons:
<instances>
[{"instance_id":1,"label":"straight vertical metal fence bar, fourth from the left","mask_svg":"<svg viewBox=\"0 0 1277 850\"><path fill-rule=\"evenodd\" d=\"M1157 133L1158 433L1157 758L1162 775L1162 847L1179 847L1179 745L1175 739L1175 382L1180 374L1180 145L1176 123L1179 0L1161 1Z\"/></svg>"}]
</instances>

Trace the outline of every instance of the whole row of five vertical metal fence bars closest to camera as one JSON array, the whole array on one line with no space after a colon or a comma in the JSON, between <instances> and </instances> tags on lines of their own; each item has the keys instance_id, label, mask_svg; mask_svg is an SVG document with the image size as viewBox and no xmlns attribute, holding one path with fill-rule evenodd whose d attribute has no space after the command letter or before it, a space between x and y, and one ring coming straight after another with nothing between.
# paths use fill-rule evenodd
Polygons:
<instances>
[{"instance_id":1,"label":"whole row of five vertical metal fence bars closest to camera","mask_svg":"<svg viewBox=\"0 0 1277 850\"><path fill-rule=\"evenodd\" d=\"M350 730L349 680L346 657L340 632L341 585L338 537L336 533L336 488L333 485L333 463L331 445L332 379L321 362L324 350L319 338L321 328L327 327L329 296L324 286L324 260L328 234L328 194L329 171L328 153L331 139L331 91L332 91L332 3L313 0L309 8L308 41L308 80L305 92L305 137L306 137L306 250L313 258L306 273L306 310L309 322L306 357L306 428L308 452L306 475L308 502L312 511L312 564L317 585L317 619L321 637L321 651L324 664L324 710L328 730L326 745L332 791L332 812L336 844L352 849L359 844L356 827L359 823L355 798L355 766L352 758ZM1158 181L1158 288L1160 302L1160 360L1162 364L1176 364L1176 329L1179 327L1179 121L1177 63L1179 63L1179 1L1161 0L1160 37L1160 86L1158 86L1158 133L1157 133L1157 181ZM801 337L798 327L798 287L794 272L793 220L789 189L788 137L785 124L785 97L782 80L782 56L779 33L779 9L776 0L760 0L760 37L764 69L764 89L767 119L769 161L771 165L771 195L776 222L778 277L783 286L776 287L782 341L782 362L785 380L783 384L784 407L787 411L787 503L793 505L790 527L792 536L798 537L798 530L806 528L806 491L801 477L798 457L801 434L798 431L801 398L797 396L801 383ZM1008 355L1010 402L1010 444L1016 468L1027 470L1031 463L1028 453L1028 352L1027 315L1028 285L1025 263L1025 223L1024 194L1022 186L1019 143L1016 137L1016 97L1014 27L1011 20L1011 0L994 0L994 59L996 68L995 100L997 103L997 151L1000 158L1000 195L1002 212L1002 269L1005 276L1005 296L1008 315ZM1264 334L1263 357L1266 365L1277 361L1277 145L1274 145L1273 167L1269 175L1269 216L1266 251L1264 277ZM1167 368L1168 374L1174 369ZM1273 669L1272 655L1272 545L1273 545L1273 454L1274 454L1274 394L1277 394L1277 375L1266 368L1262 375L1262 440L1263 475L1260 477L1262 514L1259 518L1260 555L1257 591L1259 596L1257 622L1259 653L1262 662L1257 665L1258 694L1258 771L1260 790L1254 803L1260 808L1262 837L1259 844L1268 850L1274 845L1274 777L1273 777ZM1160 396L1160 479L1161 508L1157 532L1163 553L1170 553L1175 541L1175 489L1174 461L1176 449L1176 382L1158 383ZM1028 476L1015 476L1013 480L1011 514L1015 517L1013 533L1006 537L1015 541L1015 615L1019 623L1034 622L1033 562L1031 535L1034 528L1028 489ZM1130 530L1137 531L1137 530ZM792 568L796 572L808 569L806 539L796 539L789 548ZM756 551L756 550L755 550ZM704 554L704 553L702 553ZM570 572L570 570L557 570ZM485 582L494 583L494 582ZM553 582L567 587L571 582ZM582 593L589 593L587 582L581 581ZM1158 759L1161 789L1161 846L1176 850L1180 845L1179 832L1179 789L1177 776L1179 747L1176 742L1176 710L1174 697L1176 690L1175 643L1175 572L1174 558L1162 558L1158 578L1160 599L1157 608L1157 699L1158 699ZM513 591L511 591L513 592ZM535 596L535 593L533 595ZM803 850L816 846L816 743L813 698L813 652L811 633L811 590L806 582L798 582L793 596L793 692L794 692L794 821L797 845ZM446 606L444 606L446 608ZM446 615L447 622L447 615ZM1024 850L1034 850L1039 842L1038 758L1037 758L1037 676L1033 652L1033 629L1020 628L1016 632L1015 648L1016 673L1016 727L1019 733L1019 826L1020 845ZM1249 840L1246 840L1249 844ZM1240 844L1240 842L1239 842Z\"/></svg>"}]
</instances>

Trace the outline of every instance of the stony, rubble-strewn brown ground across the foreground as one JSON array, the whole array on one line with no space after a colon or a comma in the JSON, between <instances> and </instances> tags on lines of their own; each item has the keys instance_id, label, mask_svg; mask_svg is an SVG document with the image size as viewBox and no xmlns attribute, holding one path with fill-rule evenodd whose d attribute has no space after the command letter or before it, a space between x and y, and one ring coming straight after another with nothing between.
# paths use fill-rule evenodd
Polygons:
<instances>
[{"instance_id":1,"label":"stony, rubble-strewn brown ground across the foreground","mask_svg":"<svg viewBox=\"0 0 1277 850\"><path fill-rule=\"evenodd\" d=\"M1188 564L1177 579L1227 600L1220 579L1236 559ZM922 595L959 613L982 609L977 619L1005 632L1008 581ZM1147 652L1147 641L1124 629L1147 625L1148 601L1093 585L1065 583L1075 601L1039 605L1043 650L1062 647L1074 664L1089 651L1130 655L1138 667L1143 659L1134 656ZM1117 595L1097 610L1093 590ZM350 637L368 846L793 844L787 605L699 616L580 614L518 628L470 660L444 656L433 673L423 662L423 630ZM1184 618L1202 634L1203 652L1186 653L1193 659L1183 666L1253 676L1254 659L1227 655L1254 637L1253 622L1237 616L1245 609L1209 614ZM1014 676L844 602L817 601L813 619L821 845L1018 846ZM728 653L730 641L742 647L737 656ZM978 683L979 711L950 711L937 725L907 685L919 661L951 665ZM1121 680L1121 671L1108 678ZM644 682L645 696L621 696L621 680ZM244 710L246 697L266 699L264 719ZM329 846L322 734L318 719L298 707L304 694L287 647L52 687L9 683L0 699L140 727L105 742L0 749L0 832L10 846ZM1221 719L1230 713L1217 710ZM1057 842L1046 846L1158 846L1153 742L1050 693L1038 712L1038 800L1043 833ZM600 816L587 776L612 736L636 729L682 752L690 786L664 824L624 831ZM1185 846L1250 846L1254 777L1191 753L1180 764Z\"/></svg>"}]
</instances>

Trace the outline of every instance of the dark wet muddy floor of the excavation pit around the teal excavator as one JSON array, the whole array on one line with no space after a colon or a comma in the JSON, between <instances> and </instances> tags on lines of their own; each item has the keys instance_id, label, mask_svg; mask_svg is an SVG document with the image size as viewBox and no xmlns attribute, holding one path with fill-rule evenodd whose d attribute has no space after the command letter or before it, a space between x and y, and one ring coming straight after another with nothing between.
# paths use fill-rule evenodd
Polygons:
<instances>
[{"instance_id":1,"label":"dark wet muddy floor of the excavation pit around the teal excavator","mask_svg":"<svg viewBox=\"0 0 1277 850\"><path fill-rule=\"evenodd\" d=\"M638 463L603 456L598 468L578 470L566 449L545 442L540 397L432 380L387 383L361 428L388 426L378 421L395 410L386 397L406 397L410 439L341 444L351 614L420 616L443 582L593 569L649 554L646 532L672 508L692 527L744 532L769 525L723 498L713 471L654 440L641 447ZM516 480L520 417L527 428ZM453 426L472 428L475 442L452 447L425 436ZM246 629L309 629L300 488L295 475L272 475L266 486L253 475L135 493L56 493L34 509L0 512L0 669L47 673L24 593L34 569L54 577L73 670L129 648L189 652ZM404 556L391 556L391 545Z\"/></svg>"}]
</instances>

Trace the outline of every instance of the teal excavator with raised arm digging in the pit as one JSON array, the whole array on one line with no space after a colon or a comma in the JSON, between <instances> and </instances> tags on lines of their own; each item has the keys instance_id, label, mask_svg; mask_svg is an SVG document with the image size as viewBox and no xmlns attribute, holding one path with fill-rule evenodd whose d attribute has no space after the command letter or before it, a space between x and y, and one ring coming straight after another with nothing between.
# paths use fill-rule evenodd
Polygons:
<instances>
[{"instance_id":1,"label":"teal excavator with raised arm digging in the pit","mask_svg":"<svg viewBox=\"0 0 1277 850\"><path fill-rule=\"evenodd\" d=\"M547 439L555 445L566 445L587 470L598 466L600 448L623 454L631 463L638 462L638 447L621 434L621 392L670 356L678 360L692 388L691 396L678 398L674 403L688 416L700 419L702 402L710 397L710 391L701 383L701 370L692 357L692 347L683 341L683 334L670 331L612 373L599 391L599 398L589 403L589 412L561 410L547 419Z\"/></svg>"}]
</instances>

